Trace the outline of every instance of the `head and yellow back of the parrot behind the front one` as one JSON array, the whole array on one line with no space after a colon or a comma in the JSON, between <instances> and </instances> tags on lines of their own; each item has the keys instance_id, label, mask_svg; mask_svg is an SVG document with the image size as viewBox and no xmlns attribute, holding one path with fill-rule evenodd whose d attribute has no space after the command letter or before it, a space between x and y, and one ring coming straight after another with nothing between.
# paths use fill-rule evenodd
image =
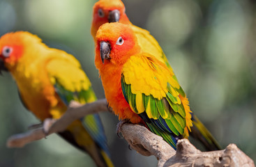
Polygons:
<instances>
[{"instance_id":1,"label":"head and yellow back of the parrot behind the front one","mask_svg":"<svg viewBox=\"0 0 256 167\"><path fill-rule=\"evenodd\" d=\"M96 32L102 24L107 22L129 24L135 32L142 50L156 56L159 61L166 63L166 65L170 67L168 60L156 39L150 35L149 31L133 25L125 12L126 8L121 0L100 0L96 2L93 6L93 21L91 24L91 35L94 38L94 42L96 42Z\"/></svg>"}]
</instances>

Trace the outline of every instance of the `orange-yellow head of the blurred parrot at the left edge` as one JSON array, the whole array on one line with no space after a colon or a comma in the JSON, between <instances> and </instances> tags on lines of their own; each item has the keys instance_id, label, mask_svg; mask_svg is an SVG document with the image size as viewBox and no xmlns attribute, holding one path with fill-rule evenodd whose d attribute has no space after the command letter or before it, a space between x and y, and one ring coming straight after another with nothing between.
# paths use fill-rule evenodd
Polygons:
<instances>
[{"instance_id":1,"label":"orange-yellow head of the blurred parrot at the left edge","mask_svg":"<svg viewBox=\"0 0 256 167\"><path fill-rule=\"evenodd\" d=\"M40 42L40 38L29 32L6 33L0 38L0 74L11 70L24 55L27 47Z\"/></svg>"}]
</instances>

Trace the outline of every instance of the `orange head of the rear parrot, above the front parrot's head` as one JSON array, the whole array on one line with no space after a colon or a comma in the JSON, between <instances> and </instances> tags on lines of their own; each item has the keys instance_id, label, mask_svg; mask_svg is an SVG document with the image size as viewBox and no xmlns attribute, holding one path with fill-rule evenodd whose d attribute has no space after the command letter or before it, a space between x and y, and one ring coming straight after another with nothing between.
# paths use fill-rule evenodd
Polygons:
<instances>
[{"instance_id":1,"label":"orange head of the rear parrot, above the front parrot's head","mask_svg":"<svg viewBox=\"0 0 256 167\"><path fill-rule=\"evenodd\" d=\"M93 6L93 22L91 35L96 35L98 28L107 22L121 22L128 24L126 8L121 0L100 0Z\"/></svg>"}]
</instances>

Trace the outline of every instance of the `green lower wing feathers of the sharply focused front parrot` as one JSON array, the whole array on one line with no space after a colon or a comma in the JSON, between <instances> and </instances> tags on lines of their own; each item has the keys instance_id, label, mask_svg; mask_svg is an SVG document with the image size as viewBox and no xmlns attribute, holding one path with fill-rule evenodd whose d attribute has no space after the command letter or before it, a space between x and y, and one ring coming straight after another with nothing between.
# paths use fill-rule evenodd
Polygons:
<instances>
[{"instance_id":1,"label":"green lower wing feathers of the sharply focused front parrot","mask_svg":"<svg viewBox=\"0 0 256 167\"><path fill-rule=\"evenodd\" d=\"M125 78L121 78L121 86L123 95L126 98L130 108L146 122L151 132L162 136L167 143L170 143L173 148L176 148L176 141L181 138L186 127L185 111L182 104L175 104L179 97L173 97L168 92L166 97L161 100L154 98L152 95L142 93L142 105L144 111L139 112L136 104L136 94L131 92L130 84L126 84ZM172 99L171 99L172 98ZM167 104L166 104L167 102ZM146 117L146 118L145 118Z\"/></svg>"}]
</instances>

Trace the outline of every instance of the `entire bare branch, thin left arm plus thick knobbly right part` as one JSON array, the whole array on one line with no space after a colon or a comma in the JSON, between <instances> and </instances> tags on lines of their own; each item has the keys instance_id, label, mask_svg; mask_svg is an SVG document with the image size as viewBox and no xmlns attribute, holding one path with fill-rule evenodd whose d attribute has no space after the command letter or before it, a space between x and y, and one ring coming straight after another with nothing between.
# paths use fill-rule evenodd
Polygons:
<instances>
[{"instance_id":1,"label":"entire bare branch, thin left arm plus thick knobbly right part","mask_svg":"<svg viewBox=\"0 0 256 167\"><path fill-rule=\"evenodd\" d=\"M24 134L16 134L8 139L9 148L20 148L32 141L45 138L48 134L62 132L68 125L91 113L110 111L106 100L98 100L90 104L71 103L68 111L59 120L47 119L40 126ZM158 167L166 166L255 166L252 159L244 154L234 144L225 150L201 152L187 139L179 140L177 151L163 141L160 136L151 133L146 127L130 123L121 126L121 134L133 150L144 156L155 156Z\"/></svg>"}]
</instances>

